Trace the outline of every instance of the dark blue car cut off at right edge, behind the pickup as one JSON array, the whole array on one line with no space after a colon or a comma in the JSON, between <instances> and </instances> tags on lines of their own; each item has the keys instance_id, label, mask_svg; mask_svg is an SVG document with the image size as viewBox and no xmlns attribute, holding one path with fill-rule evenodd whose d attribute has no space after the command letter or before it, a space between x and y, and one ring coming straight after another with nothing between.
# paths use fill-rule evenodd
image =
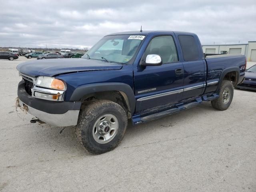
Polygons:
<instances>
[{"instance_id":1,"label":"dark blue car cut off at right edge, behind the pickup","mask_svg":"<svg viewBox=\"0 0 256 192\"><path fill-rule=\"evenodd\" d=\"M238 84L236 88L256 90L256 65L246 70L244 82Z\"/></svg>"}]
</instances>

